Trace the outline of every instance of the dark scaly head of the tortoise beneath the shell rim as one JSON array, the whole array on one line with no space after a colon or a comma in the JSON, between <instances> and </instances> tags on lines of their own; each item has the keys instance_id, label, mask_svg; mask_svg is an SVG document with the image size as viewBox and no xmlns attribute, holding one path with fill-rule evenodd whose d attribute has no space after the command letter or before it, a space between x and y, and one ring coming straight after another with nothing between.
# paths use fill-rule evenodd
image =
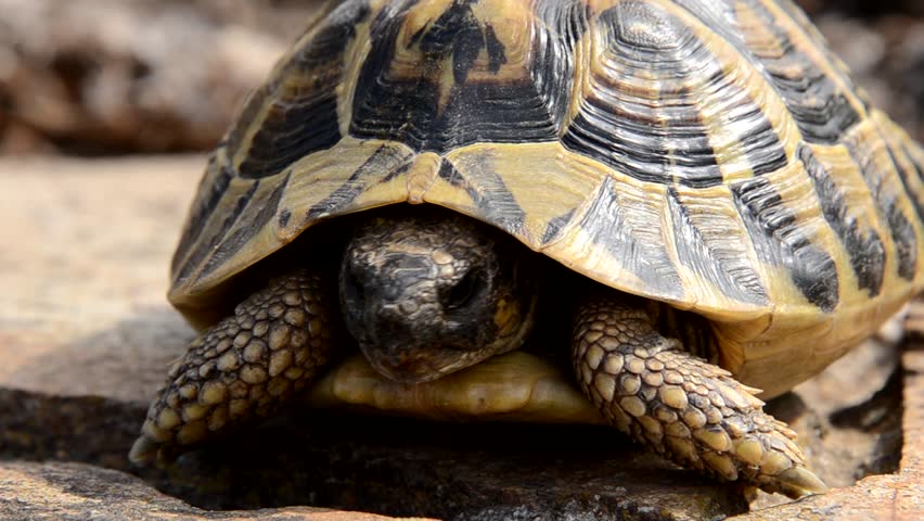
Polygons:
<instances>
[{"instance_id":1,"label":"dark scaly head of the tortoise beneath the shell rim","mask_svg":"<svg viewBox=\"0 0 924 521\"><path fill-rule=\"evenodd\" d=\"M373 217L341 265L347 329L378 372L402 383L517 348L537 298L523 250L462 215L414 208Z\"/></svg>"}]
</instances>

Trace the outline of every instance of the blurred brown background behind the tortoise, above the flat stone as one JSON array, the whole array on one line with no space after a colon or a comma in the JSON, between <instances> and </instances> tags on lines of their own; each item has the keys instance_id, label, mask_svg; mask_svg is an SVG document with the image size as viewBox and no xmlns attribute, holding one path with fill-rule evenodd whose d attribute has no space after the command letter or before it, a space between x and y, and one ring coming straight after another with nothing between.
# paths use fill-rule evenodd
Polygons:
<instances>
[{"instance_id":1,"label":"blurred brown background behind the tortoise, above the flat stone","mask_svg":"<svg viewBox=\"0 0 924 521\"><path fill-rule=\"evenodd\" d=\"M210 149L322 0L0 0L0 154ZM800 0L924 141L924 0Z\"/></svg>"}]
</instances>

